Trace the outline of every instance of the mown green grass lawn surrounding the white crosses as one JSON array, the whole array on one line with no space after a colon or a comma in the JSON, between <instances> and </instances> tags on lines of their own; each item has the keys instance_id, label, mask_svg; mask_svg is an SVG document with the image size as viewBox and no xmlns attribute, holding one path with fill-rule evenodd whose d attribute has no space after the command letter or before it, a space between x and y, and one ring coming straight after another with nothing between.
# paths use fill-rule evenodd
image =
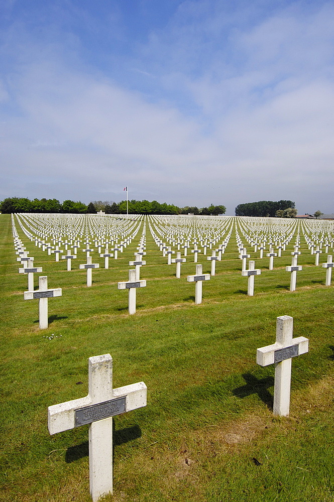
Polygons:
<instances>
[{"instance_id":1,"label":"mown green grass lawn surrounding the white crosses","mask_svg":"<svg viewBox=\"0 0 334 502\"><path fill-rule=\"evenodd\" d=\"M195 305L186 280L193 257L177 280L147 226L147 287L129 316L117 283L128 280L142 228L108 270L93 254L100 268L91 288L78 269L83 253L67 272L65 260L55 263L17 230L62 297L49 300L49 328L39 330L38 302L23 300L27 276L18 274L11 216L0 215L1 500L90 500L88 427L50 436L47 408L85 396L87 359L104 353L113 357L114 387L148 388L147 407L114 419L114 494L106 501L334 500L334 290L303 238L297 290L285 272L291 241L273 271L268 258L255 258L262 274L248 297L233 231ZM208 261L198 263L210 272ZM289 418L272 414L274 367L256 364L280 315L294 318L294 336L309 338L309 353L292 362Z\"/></svg>"}]
</instances>

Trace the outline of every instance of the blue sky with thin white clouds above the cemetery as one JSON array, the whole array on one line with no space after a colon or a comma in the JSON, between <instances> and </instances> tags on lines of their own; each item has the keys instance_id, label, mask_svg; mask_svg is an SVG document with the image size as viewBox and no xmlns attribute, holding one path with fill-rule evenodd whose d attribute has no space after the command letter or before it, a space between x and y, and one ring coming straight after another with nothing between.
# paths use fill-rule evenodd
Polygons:
<instances>
[{"instance_id":1,"label":"blue sky with thin white clouds above the cemetery","mask_svg":"<svg viewBox=\"0 0 334 502\"><path fill-rule=\"evenodd\" d=\"M2 0L0 200L334 213L334 3Z\"/></svg>"}]
</instances>

